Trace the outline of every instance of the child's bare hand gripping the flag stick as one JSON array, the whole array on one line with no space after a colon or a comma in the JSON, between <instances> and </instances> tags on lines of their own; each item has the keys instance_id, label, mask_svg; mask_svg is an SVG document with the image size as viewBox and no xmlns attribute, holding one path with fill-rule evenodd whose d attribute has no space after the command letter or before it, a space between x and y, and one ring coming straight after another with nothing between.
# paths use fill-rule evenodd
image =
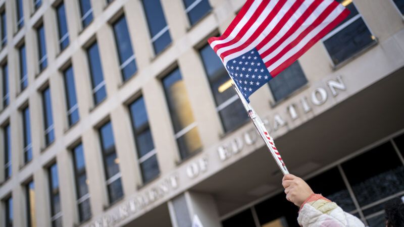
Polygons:
<instances>
[{"instance_id":1,"label":"child's bare hand gripping the flag stick","mask_svg":"<svg viewBox=\"0 0 404 227\"><path fill-rule=\"evenodd\" d=\"M304 180L291 174L283 177L282 186L285 188L286 199L298 207L314 194L313 190Z\"/></svg>"}]
</instances>

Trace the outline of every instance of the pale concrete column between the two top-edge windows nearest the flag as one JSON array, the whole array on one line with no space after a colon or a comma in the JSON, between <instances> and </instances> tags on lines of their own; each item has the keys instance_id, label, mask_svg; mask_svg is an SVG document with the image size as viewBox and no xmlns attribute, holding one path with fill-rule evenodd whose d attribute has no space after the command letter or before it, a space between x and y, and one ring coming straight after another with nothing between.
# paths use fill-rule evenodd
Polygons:
<instances>
[{"instance_id":1,"label":"pale concrete column between the two top-edge windows nearest the flag","mask_svg":"<svg viewBox=\"0 0 404 227\"><path fill-rule=\"evenodd\" d=\"M179 40L186 34L189 22L182 0L161 0L164 16L170 28L170 35L173 42Z\"/></svg>"}]
</instances>

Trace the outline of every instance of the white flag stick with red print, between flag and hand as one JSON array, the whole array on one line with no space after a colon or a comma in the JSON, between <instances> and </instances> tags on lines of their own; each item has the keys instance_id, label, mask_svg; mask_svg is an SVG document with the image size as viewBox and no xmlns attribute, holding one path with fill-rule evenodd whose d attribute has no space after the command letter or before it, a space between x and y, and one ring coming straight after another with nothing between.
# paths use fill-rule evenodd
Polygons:
<instances>
[{"instance_id":1,"label":"white flag stick with red print, between flag and hand","mask_svg":"<svg viewBox=\"0 0 404 227\"><path fill-rule=\"evenodd\" d=\"M241 91L235 85L233 78L231 78L231 80L232 80L233 88L236 91L241 102L243 103L243 106L244 106L245 110L247 111L249 118L251 119L252 123L254 123L254 125L256 126L257 131L260 133L261 138L264 140L265 144L267 145L270 153L272 154L272 157L275 159L275 162L278 164L283 175L289 174L289 171L287 170L286 165L283 162L281 155L279 154L279 151L275 147L274 140L272 139L272 137L270 137L267 129L265 128L264 123L261 121L260 116L257 115L256 111L248 104L247 100L245 100Z\"/></svg>"}]
</instances>

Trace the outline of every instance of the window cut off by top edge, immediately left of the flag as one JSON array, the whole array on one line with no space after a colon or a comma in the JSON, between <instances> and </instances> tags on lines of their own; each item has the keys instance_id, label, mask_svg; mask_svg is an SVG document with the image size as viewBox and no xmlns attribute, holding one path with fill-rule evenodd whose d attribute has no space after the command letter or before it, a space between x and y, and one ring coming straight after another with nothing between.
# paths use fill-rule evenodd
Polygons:
<instances>
[{"instance_id":1,"label":"window cut off by top edge, immediately left of the flag","mask_svg":"<svg viewBox=\"0 0 404 227\"><path fill-rule=\"evenodd\" d=\"M188 15L191 25L198 22L212 9L208 0L184 0L184 5L185 13Z\"/></svg>"}]
</instances>

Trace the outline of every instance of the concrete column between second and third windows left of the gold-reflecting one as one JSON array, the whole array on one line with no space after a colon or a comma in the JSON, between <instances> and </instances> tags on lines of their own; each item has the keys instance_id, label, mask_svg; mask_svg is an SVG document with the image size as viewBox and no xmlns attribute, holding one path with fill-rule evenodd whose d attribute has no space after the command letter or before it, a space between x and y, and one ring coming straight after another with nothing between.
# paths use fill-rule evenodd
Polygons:
<instances>
[{"instance_id":1,"label":"concrete column between second and third windows left of the gold-reflecting one","mask_svg":"<svg viewBox=\"0 0 404 227\"><path fill-rule=\"evenodd\" d=\"M88 191L90 193L91 212L97 216L104 212L108 204L107 188L104 175L104 162L100 150L98 133L90 129L82 135Z\"/></svg>"}]
</instances>

